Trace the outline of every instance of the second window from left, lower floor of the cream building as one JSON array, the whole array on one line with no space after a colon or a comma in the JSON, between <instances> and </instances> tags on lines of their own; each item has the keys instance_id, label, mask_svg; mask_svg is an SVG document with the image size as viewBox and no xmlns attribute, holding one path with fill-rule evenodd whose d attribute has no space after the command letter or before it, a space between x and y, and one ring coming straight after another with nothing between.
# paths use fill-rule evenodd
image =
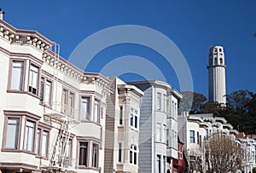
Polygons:
<instances>
[{"instance_id":1,"label":"second window from left, lower floor of the cream building","mask_svg":"<svg viewBox=\"0 0 256 173\"><path fill-rule=\"evenodd\" d=\"M35 124L26 121L26 131L25 131L25 144L24 144L24 149L31 151L33 149L33 142L34 142L34 127Z\"/></svg>"}]
</instances>

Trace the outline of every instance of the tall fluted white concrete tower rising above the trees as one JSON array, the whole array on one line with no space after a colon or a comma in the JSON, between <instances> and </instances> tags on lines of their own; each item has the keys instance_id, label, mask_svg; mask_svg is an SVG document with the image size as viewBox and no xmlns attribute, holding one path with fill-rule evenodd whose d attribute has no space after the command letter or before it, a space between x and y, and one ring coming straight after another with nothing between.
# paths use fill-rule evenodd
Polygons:
<instances>
[{"instance_id":1,"label":"tall fluted white concrete tower rising above the trees","mask_svg":"<svg viewBox=\"0 0 256 173\"><path fill-rule=\"evenodd\" d=\"M224 48L212 46L209 51L208 69L208 95L209 101L226 103Z\"/></svg>"}]
</instances>

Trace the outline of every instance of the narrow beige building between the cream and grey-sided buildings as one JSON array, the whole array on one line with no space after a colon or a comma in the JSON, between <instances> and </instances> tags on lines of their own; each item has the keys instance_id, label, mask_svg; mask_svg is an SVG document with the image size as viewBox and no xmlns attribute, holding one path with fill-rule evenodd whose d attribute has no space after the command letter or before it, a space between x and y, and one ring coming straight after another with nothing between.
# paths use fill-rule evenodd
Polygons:
<instances>
[{"instance_id":1,"label":"narrow beige building between the cream and grey-sided buildings","mask_svg":"<svg viewBox=\"0 0 256 173\"><path fill-rule=\"evenodd\" d=\"M105 173L138 172L140 106L143 91L119 78L108 78Z\"/></svg>"}]
</instances>

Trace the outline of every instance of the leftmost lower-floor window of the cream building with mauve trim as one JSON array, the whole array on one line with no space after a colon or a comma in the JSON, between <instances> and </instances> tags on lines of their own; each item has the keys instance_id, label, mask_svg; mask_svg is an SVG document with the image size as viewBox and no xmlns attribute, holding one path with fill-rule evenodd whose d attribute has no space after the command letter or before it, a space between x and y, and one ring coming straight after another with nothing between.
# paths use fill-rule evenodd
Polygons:
<instances>
[{"instance_id":1,"label":"leftmost lower-floor window of the cream building with mauve trim","mask_svg":"<svg viewBox=\"0 0 256 173\"><path fill-rule=\"evenodd\" d=\"M7 124L7 134L6 134L6 148L15 148L18 147L18 138L19 138L19 126L20 118L8 118Z\"/></svg>"}]
</instances>

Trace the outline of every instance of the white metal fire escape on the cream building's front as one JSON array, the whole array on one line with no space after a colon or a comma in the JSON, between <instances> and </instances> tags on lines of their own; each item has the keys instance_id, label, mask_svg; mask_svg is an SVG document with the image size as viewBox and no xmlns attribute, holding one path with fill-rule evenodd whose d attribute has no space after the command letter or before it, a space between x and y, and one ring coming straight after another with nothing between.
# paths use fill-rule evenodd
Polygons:
<instances>
[{"instance_id":1,"label":"white metal fire escape on the cream building's front","mask_svg":"<svg viewBox=\"0 0 256 173\"><path fill-rule=\"evenodd\" d=\"M69 104L57 100L58 90L58 64L60 56L60 45L55 43L52 47L54 52L53 84L55 87L55 98L50 107L44 107L44 119L55 129L52 146L49 149L49 165L41 165L44 172L77 172L77 161L71 156L71 132L75 124L79 123L77 112ZM63 98L62 98L63 99ZM68 100L68 98L66 98Z\"/></svg>"}]
</instances>

